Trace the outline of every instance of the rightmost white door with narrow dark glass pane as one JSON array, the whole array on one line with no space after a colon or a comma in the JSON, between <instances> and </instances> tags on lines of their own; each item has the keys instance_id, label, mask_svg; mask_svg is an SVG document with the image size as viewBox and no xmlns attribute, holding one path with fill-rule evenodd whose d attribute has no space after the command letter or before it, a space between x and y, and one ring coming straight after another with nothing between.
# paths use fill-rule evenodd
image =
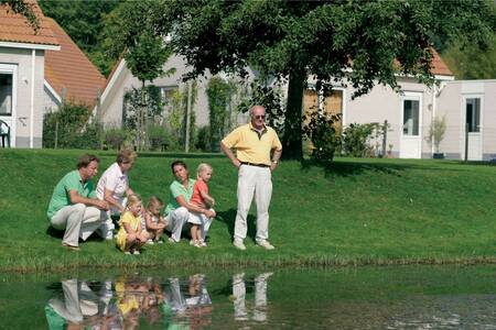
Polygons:
<instances>
[{"instance_id":1,"label":"rightmost white door with narrow dark glass pane","mask_svg":"<svg viewBox=\"0 0 496 330\"><path fill-rule=\"evenodd\" d=\"M481 102L482 97L464 97L464 114L465 114L465 124L463 127L463 132L468 130L468 134L464 134L463 139L463 152L465 155L465 151L468 152L468 161L482 161L482 125L481 125ZM465 147L465 140L468 141L468 146Z\"/></svg>"}]
</instances>

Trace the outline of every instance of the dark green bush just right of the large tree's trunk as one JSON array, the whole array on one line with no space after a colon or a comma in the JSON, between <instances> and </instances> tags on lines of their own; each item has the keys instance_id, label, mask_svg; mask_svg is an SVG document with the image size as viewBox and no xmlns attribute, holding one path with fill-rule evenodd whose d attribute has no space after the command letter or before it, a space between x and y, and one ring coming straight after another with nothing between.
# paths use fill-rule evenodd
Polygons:
<instances>
[{"instance_id":1,"label":"dark green bush just right of the large tree's trunk","mask_svg":"<svg viewBox=\"0 0 496 330\"><path fill-rule=\"evenodd\" d=\"M339 121L341 114L330 116L313 111L304 116L304 119L306 124L303 127L303 134L313 144L312 158L317 162L331 162L341 150L341 136L334 125Z\"/></svg>"}]
</instances>

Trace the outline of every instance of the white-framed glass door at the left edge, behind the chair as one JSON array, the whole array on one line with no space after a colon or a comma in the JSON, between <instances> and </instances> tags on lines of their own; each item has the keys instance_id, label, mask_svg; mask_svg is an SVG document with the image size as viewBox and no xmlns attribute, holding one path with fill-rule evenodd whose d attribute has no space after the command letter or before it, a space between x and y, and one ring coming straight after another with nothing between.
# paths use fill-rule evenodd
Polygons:
<instances>
[{"instance_id":1,"label":"white-framed glass door at the left edge, behind the chair","mask_svg":"<svg viewBox=\"0 0 496 330\"><path fill-rule=\"evenodd\" d=\"M17 66L0 64L0 120L10 128L10 146L15 146Z\"/></svg>"}]
</instances>

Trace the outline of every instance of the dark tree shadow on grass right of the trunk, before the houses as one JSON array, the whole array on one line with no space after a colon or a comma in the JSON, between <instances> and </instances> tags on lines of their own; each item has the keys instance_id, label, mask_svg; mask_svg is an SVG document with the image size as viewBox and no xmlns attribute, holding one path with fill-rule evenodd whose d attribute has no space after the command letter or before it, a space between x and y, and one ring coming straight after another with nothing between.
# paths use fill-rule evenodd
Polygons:
<instances>
[{"instance_id":1,"label":"dark tree shadow on grass right of the trunk, before the houses","mask_svg":"<svg viewBox=\"0 0 496 330\"><path fill-rule=\"evenodd\" d=\"M488 163L468 163L468 165L487 165ZM321 167L324 168L325 177L348 177L363 174L365 172L381 173L393 176L401 176L402 172L408 169L429 169L429 170L443 170L443 172L462 172L460 168L449 168L445 165L465 165L463 162L443 162L441 163L428 163L422 162L416 164L414 161L405 163L392 162L363 162L357 161L333 161L333 162L316 162L313 160L303 160L301 162L301 169L309 172L311 168Z\"/></svg>"}]
</instances>

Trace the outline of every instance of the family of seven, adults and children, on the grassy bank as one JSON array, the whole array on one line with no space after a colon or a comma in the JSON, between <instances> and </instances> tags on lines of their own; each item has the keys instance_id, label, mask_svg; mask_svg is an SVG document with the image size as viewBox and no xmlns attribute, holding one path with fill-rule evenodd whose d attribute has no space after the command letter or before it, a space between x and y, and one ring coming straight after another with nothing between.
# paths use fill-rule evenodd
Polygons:
<instances>
[{"instance_id":1,"label":"family of seven, adults and children, on the grassy bank","mask_svg":"<svg viewBox=\"0 0 496 330\"><path fill-rule=\"evenodd\" d=\"M238 250L246 250L247 216L254 196L256 243L267 250L274 249L268 241L271 173L278 166L282 145L276 131L265 124L265 119L266 109L252 107L250 122L235 129L220 142L223 152L238 168L238 207L233 241ZM84 154L77 168L58 182L47 218L52 227L65 231L63 246L79 250L79 239L85 241L94 232L114 239L112 218L116 217L119 217L116 244L127 254L140 254L145 243L161 243L165 231L170 233L170 243L179 243L186 223L190 224L191 245L206 246L207 232L216 216L215 199L208 193L212 166L201 164L196 179L192 179L184 162L173 162L171 170L175 179L170 185L170 200L162 211L164 204L160 198L152 196L143 208L141 198L129 187L128 172L136 158L133 151L120 151L116 163L104 172L95 189L91 178L98 173L99 158Z\"/></svg>"}]
</instances>

